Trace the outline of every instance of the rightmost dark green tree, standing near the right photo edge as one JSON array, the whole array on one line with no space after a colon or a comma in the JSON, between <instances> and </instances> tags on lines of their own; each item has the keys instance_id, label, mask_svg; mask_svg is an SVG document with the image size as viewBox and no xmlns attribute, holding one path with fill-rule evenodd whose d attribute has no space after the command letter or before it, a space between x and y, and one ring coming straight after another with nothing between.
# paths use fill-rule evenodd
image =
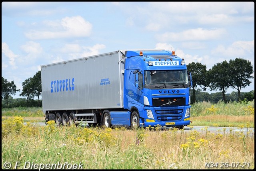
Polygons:
<instances>
[{"instance_id":1,"label":"rightmost dark green tree, standing near the right photo edge","mask_svg":"<svg viewBox=\"0 0 256 171\"><path fill-rule=\"evenodd\" d=\"M229 61L230 74L232 77L231 87L238 91L238 101L240 101L240 90L250 85L252 82L249 79L253 79L253 66L250 61L246 59L236 58Z\"/></svg>"}]
</instances>

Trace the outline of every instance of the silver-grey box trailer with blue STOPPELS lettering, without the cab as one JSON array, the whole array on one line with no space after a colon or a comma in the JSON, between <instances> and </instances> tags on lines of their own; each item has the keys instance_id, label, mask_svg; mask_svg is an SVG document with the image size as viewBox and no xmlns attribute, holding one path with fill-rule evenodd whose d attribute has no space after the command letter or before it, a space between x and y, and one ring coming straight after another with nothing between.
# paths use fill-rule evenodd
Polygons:
<instances>
[{"instance_id":1,"label":"silver-grey box trailer with blue STOPPELS lettering, without the cab","mask_svg":"<svg viewBox=\"0 0 256 171\"><path fill-rule=\"evenodd\" d=\"M123 108L123 58L122 51L114 51L41 65L44 114L52 118L52 111L74 110L82 116L76 110ZM95 123L95 119L87 118L87 122Z\"/></svg>"}]
</instances>

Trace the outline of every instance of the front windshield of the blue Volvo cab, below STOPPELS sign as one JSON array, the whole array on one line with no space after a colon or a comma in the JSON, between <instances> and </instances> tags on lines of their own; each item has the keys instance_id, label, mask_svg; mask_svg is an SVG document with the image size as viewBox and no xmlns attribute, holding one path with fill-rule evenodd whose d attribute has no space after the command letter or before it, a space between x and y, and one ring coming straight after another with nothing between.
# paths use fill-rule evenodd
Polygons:
<instances>
[{"instance_id":1,"label":"front windshield of the blue Volvo cab, below STOPPELS sign","mask_svg":"<svg viewBox=\"0 0 256 171\"><path fill-rule=\"evenodd\" d=\"M157 85L162 83L188 84L188 73L186 70L145 71L145 85Z\"/></svg>"}]
</instances>

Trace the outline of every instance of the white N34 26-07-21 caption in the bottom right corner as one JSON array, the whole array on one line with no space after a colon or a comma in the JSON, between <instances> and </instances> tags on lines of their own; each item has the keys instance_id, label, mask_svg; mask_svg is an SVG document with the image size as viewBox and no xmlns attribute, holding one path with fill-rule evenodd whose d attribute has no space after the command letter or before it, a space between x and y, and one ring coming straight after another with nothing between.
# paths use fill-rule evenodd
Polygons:
<instances>
[{"instance_id":1,"label":"white N34 26-07-21 caption in the bottom right corner","mask_svg":"<svg viewBox=\"0 0 256 171\"><path fill-rule=\"evenodd\" d=\"M241 167L241 168L248 168L250 166L250 162L232 162L232 163L229 163L229 162L206 162L205 163L205 167L208 167L208 168L212 168L212 167L220 167L220 168L227 168L227 167L232 167L232 168L238 168L238 167Z\"/></svg>"}]
</instances>

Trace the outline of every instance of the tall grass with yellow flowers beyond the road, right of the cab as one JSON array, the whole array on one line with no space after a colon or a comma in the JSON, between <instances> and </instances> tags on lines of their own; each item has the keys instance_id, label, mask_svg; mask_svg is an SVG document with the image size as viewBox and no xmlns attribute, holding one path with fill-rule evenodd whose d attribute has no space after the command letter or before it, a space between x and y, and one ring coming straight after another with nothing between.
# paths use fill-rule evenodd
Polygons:
<instances>
[{"instance_id":1,"label":"tall grass with yellow flowers beyond the road, right of the cab","mask_svg":"<svg viewBox=\"0 0 256 171\"><path fill-rule=\"evenodd\" d=\"M240 127L250 125L254 128L254 100L250 102L197 102L191 107L191 126Z\"/></svg>"}]
</instances>

